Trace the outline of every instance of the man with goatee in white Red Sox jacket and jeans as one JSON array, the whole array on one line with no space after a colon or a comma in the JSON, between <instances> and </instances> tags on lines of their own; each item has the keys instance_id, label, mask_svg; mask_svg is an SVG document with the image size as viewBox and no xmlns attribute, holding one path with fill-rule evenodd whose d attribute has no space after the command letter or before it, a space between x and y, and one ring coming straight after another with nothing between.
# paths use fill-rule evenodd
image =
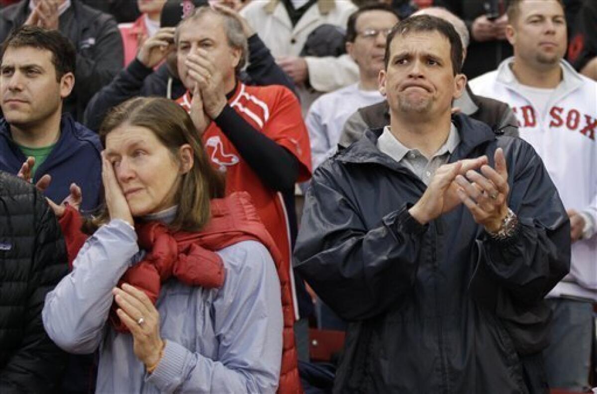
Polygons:
<instances>
[{"instance_id":1,"label":"man with goatee in white Red Sox jacket and jeans","mask_svg":"<svg viewBox=\"0 0 597 394\"><path fill-rule=\"evenodd\" d=\"M597 83L562 60L559 0L515 0L508 16L514 57L470 87L510 104L520 137L543 159L570 217L572 264L547 296L554 313L545 362L550 387L580 391L588 384L597 301Z\"/></svg>"}]
</instances>

